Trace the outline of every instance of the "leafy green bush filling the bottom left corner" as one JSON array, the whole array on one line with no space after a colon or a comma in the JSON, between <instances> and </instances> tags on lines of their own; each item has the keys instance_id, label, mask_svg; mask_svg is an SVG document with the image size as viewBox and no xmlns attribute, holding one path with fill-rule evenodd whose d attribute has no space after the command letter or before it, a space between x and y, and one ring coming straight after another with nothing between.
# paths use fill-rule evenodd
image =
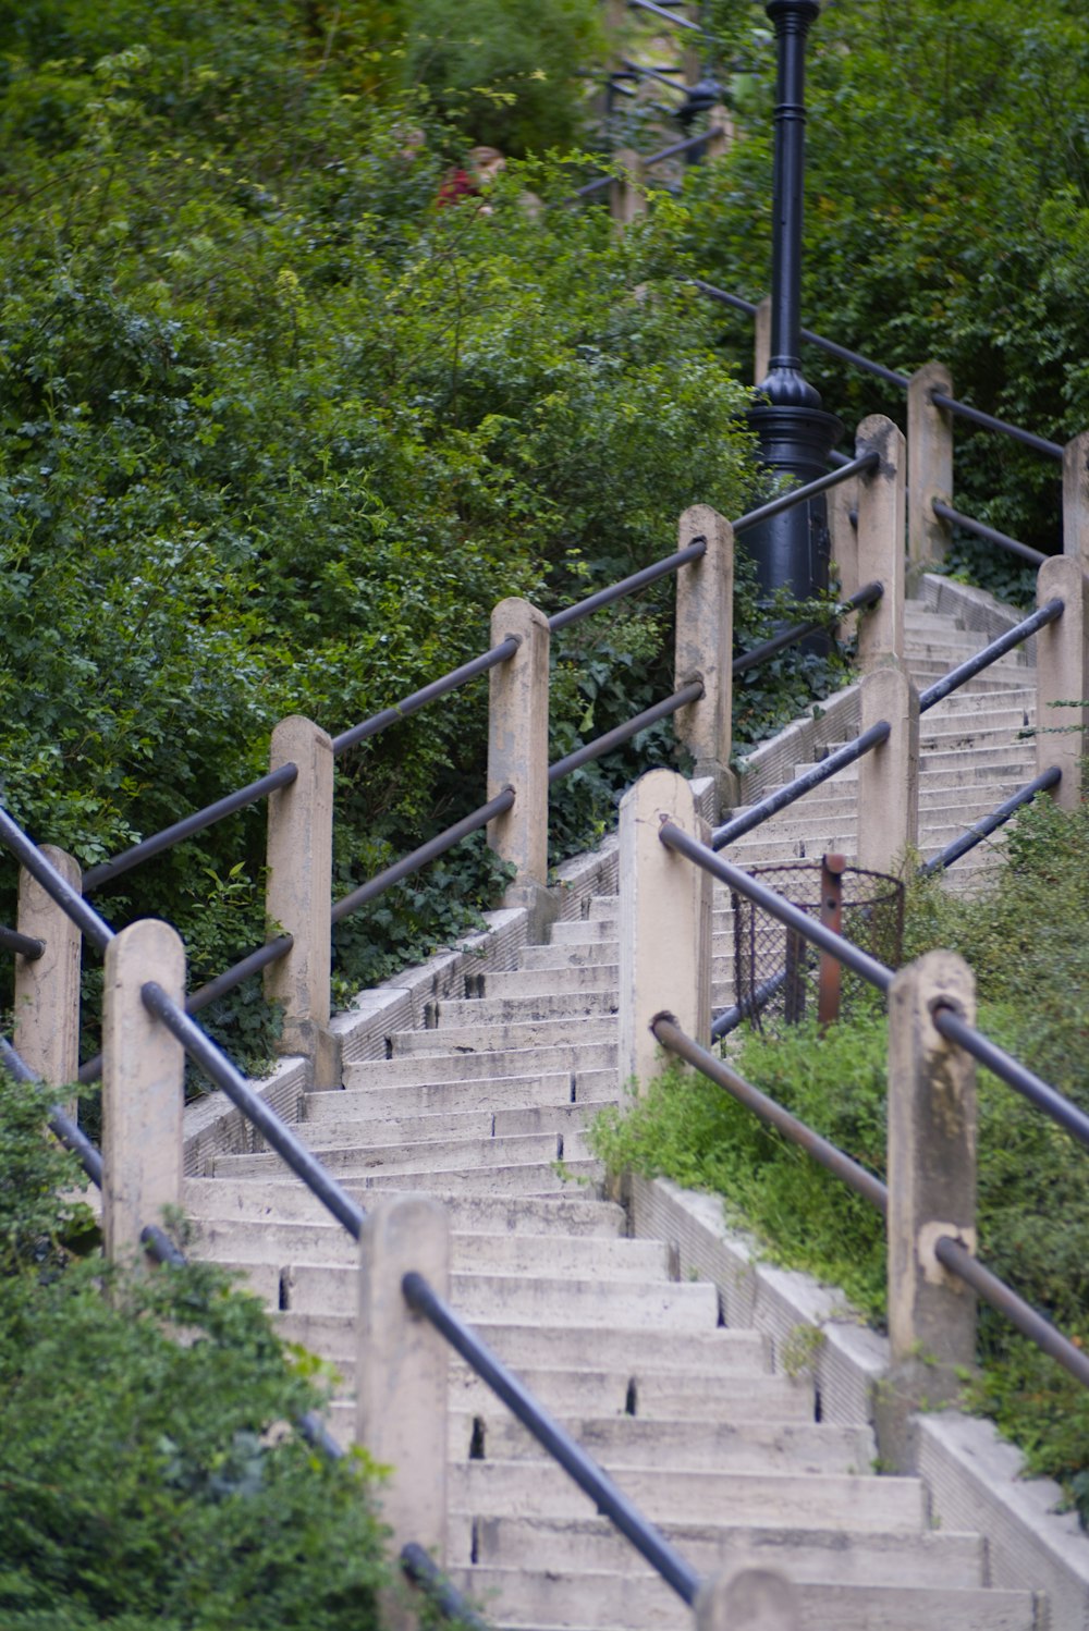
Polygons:
<instances>
[{"instance_id":1,"label":"leafy green bush filling the bottom left corner","mask_svg":"<svg viewBox=\"0 0 1089 1631\"><path fill-rule=\"evenodd\" d=\"M285 1425L321 1399L311 1362L215 1267L70 1259L46 1103L0 1094L3 1624L227 1631L259 1603L269 1631L377 1628L375 1470Z\"/></svg>"}]
</instances>

